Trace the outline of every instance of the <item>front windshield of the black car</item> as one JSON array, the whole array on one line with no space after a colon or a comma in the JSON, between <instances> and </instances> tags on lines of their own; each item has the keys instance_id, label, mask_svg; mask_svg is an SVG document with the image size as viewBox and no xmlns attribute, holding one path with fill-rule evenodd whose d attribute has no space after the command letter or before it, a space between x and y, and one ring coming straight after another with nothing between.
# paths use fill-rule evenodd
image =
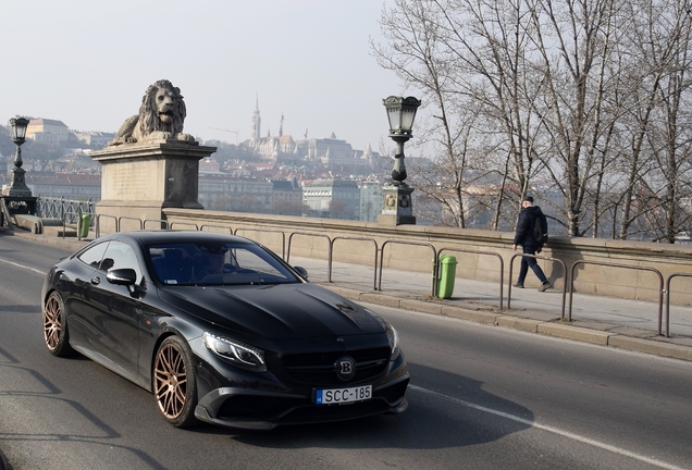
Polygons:
<instances>
[{"instance_id":1,"label":"front windshield of the black car","mask_svg":"<svg viewBox=\"0 0 692 470\"><path fill-rule=\"evenodd\" d=\"M286 284L300 282L261 247L248 243L159 244L148 247L165 285Z\"/></svg>"}]
</instances>

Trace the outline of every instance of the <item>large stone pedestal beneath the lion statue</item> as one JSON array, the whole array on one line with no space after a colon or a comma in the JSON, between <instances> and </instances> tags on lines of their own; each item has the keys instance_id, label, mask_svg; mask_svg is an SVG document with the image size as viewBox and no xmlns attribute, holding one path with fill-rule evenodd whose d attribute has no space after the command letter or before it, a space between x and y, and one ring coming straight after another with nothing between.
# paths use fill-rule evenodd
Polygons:
<instances>
[{"instance_id":1,"label":"large stone pedestal beneath the lion statue","mask_svg":"<svg viewBox=\"0 0 692 470\"><path fill-rule=\"evenodd\" d=\"M96 214L113 232L121 218L162 220L164 208L203 209L197 201L199 160L217 151L196 141L123 144L91 152L103 165ZM135 228L128 222L128 228ZM111 230L112 228L112 230Z\"/></svg>"}]
</instances>

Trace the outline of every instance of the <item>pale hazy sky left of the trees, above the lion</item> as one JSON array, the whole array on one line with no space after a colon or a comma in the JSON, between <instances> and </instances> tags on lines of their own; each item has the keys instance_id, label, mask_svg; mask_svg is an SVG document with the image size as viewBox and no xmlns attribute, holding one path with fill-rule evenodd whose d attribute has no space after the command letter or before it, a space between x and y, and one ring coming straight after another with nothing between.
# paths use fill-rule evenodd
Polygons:
<instances>
[{"instance_id":1,"label":"pale hazy sky left of the trees, above the lion","mask_svg":"<svg viewBox=\"0 0 692 470\"><path fill-rule=\"evenodd\" d=\"M348 140L374 150L382 99L398 79L370 54L383 0L22 0L0 10L0 122L54 119L115 132L158 79L187 106L185 131L249 138L256 96L262 136ZM405 94L406 95L406 94ZM28 156L27 156L28 157Z\"/></svg>"}]
</instances>

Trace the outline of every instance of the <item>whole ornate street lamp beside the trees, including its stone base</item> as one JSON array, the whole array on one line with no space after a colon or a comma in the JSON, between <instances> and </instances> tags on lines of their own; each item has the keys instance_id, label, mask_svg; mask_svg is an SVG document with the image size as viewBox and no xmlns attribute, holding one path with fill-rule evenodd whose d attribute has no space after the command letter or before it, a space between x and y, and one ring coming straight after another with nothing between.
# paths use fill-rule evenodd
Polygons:
<instances>
[{"instance_id":1,"label":"whole ornate street lamp beside the trees, including its stone base","mask_svg":"<svg viewBox=\"0 0 692 470\"><path fill-rule=\"evenodd\" d=\"M413 208L411 203L411 193L405 180L406 164L404 163L404 144L412 137L411 128L416 119L416 111L421 101L413 97L391 96L382 100L382 104L387 110L390 120L390 138L396 143L396 154L394 156L394 169L392 170L392 184L383 188L384 202L382 214L378 218L378 223L387 225L415 224Z\"/></svg>"}]
</instances>

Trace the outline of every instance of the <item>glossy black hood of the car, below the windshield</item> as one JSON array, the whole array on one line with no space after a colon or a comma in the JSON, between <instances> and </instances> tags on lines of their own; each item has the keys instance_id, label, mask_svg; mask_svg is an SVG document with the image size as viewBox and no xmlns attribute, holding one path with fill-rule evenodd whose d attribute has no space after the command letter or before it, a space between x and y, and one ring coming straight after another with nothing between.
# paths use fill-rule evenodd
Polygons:
<instances>
[{"instance_id":1,"label":"glossy black hood of the car, below the windshield","mask_svg":"<svg viewBox=\"0 0 692 470\"><path fill-rule=\"evenodd\" d=\"M176 286L159 296L213 324L270 339L385 332L378 317L311 283Z\"/></svg>"}]
</instances>

